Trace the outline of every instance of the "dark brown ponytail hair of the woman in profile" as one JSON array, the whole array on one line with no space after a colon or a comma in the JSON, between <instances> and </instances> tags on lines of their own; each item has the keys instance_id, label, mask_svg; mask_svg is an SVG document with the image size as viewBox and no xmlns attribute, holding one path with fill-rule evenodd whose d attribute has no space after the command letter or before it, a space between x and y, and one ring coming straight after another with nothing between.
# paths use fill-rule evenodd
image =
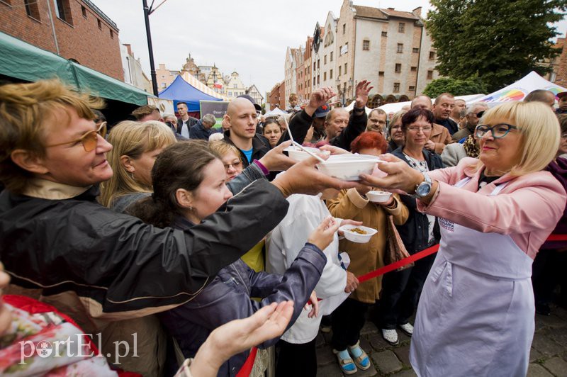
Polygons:
<instances>
[{"instance_id":1,"label":"dark brown ponytail hair of the woman in profile","mask_svg":"<svg viewBox=\"0 0 567 377\"><path fill-rule=\"evenodd\" d=\"M157 227L171 225L175 215L183 214L175 196L177 189L195 190L203 181L205 167L215 159L205 140L170 145L155 160L154 193L130 206L128 213Z\"/></svg>"}]
</instances>

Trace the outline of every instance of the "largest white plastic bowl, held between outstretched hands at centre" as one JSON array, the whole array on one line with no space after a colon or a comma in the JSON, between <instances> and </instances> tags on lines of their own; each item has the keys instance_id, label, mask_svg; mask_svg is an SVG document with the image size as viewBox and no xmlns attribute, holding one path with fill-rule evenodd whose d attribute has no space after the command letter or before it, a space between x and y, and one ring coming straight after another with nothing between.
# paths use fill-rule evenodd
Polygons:
<instances>
[{"instance_id":1,"label":"largest white plastic bowl, held between outstretched hands at centre","mask_svg":"<svg viewBox=\"0 0 567 377\"><path fill-rule=\"evenodd\" d=\"M364 154L338 154L330 156L317 167L328 176L334 176L343 181L358 181L360 174L372 174L376 162L379 161L378 157Z\"/></svg>"}]
</instances>

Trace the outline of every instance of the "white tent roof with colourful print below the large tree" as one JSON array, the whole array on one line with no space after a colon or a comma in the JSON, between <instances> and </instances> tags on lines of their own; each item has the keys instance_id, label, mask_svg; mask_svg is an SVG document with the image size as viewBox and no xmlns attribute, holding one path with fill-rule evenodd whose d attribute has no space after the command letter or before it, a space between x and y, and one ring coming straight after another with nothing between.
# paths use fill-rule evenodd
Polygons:
<instances>
[{"instance_id":1,"label":"white tent roof with colourful print below the large tree","mask_svg":"<svg viewBox=\"0 0 567 377\"><path fill-rule=\"evenodd\" d=\"M488 106L496 106L500 103L507 101L522 101L530 91L536 89L544 89L558 94L561 91L567 91L567 89L562 86L558 86L551 81L547 81L543 77L539 76L536 72L529 72L526 76L519 79L514 84L508 85L503 89L495 91L494 93L483 96L477 101L483 101L488 103Z\"/></svg>"}]
</instances>

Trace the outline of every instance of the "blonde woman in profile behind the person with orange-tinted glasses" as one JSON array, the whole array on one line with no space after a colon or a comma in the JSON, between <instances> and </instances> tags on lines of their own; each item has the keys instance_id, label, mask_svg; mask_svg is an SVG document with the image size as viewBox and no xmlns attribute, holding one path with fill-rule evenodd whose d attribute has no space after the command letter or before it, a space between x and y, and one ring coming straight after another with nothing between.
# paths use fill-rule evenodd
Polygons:
<instances>
[{"instance_id":1,"label":"blonde woman in profile behind the person with orange-tinted glasses","mask_svg":"<svg viewBox=\"0 0 567 377\"><path fill-rule=\"evenodd\" d=\"M101 204L124 213L128 206L150 195L155 159L175 141L172 130L157 120L118 123L108 135L113 150L107 159L114 174L101 184Z\"/></svg>"}]
</instances>

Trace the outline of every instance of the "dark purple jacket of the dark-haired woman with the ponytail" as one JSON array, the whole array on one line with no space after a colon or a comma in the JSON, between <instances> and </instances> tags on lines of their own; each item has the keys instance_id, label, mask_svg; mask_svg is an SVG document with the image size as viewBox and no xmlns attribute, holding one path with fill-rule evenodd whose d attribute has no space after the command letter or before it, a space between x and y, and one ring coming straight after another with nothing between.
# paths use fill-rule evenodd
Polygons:
<instances>
[{"instance_id":1,"label":"dark purple jacket of the dark-haired woman with the ponytail","mask_svg":"<svg viewBox=\"0 0 567 377\"><path fill-rule=\"evenodd\" d=\"M177 218L172 227L184 230L193 224L185 218ZM211 283L193 300L168 312L161 313L162 324L176 339L184 356L195 356L201 344L216 327L231 320L249 317L260 308L293 300L291 327L303 310L319 278L327 258L314 244L307 243L286 274L255 272L238 259L221 269ZM252 300L262 298L262 301ZM270 347L279 338L270 339L259 348ZM218 376L235 376L244 365L249 351L232 356L223 364Z\"/></svg>"}]
</instances>

